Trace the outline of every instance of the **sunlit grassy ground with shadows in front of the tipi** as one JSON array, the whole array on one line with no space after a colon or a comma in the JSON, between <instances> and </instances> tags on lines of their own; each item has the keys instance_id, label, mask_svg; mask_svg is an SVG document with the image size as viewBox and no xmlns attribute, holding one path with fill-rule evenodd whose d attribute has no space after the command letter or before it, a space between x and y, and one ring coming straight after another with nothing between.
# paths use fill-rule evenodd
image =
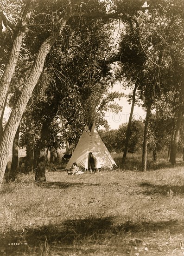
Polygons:
<instances>
[{"instance_id":1,"label":"sunlit grassy ground with shadows in front of the tipi","mask_svg":"<svg viewBox=\"0 0 184 256\"><path fill-rule=\"evenodd\" d=\"M5 183L0 255L184 256L184 166L159 159L144 173L137 161L93 175L47 172L39 186L34 174Z\"/></svg>"}]
</instances>

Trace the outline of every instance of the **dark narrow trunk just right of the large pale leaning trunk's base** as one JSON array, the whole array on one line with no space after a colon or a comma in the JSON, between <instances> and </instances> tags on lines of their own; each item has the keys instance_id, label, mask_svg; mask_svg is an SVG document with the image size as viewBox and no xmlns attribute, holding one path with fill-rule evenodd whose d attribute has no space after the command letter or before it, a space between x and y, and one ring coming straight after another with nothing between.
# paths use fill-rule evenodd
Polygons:
<instances>
[{"instance_id":1,"label":"dark narrow trunk just right of the large pale leaning trunk's base","mask_svg":"<svg viewBox=\"0 0 184 256\"><path fill-rule=\"evenodd\" d=\"M12 164L8 175L8 181L15 181L17 175L17 167L19 165L19 130L20 126L18 127L15 138L13 140Z\"/></svg>"}]
</instances>

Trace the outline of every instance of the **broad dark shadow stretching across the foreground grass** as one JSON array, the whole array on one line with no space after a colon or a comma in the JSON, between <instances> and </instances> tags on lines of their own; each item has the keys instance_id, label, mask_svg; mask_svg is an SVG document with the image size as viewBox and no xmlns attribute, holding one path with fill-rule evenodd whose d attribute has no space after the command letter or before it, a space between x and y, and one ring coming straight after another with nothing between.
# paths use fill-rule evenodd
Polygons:
<instances>
[{"instance_id":1,"label":"broad dark shadow stretching across the foreground grass","mask_svg":"<svg viewBox=\"0 0 184 256\"><path fill-rule=\"evenodd\" d=\"M114 217L74 219L64 222L58 220L55 224L25 228L23 231L9 230L6 234L0 234L1 255L16 255L18 252L19 255L44 255L40 254L40 250L43 250L45 243L48 246L57 244L60 248L69 248L74 243L103 244L104 239L108 239L110 242L114 235L121 238L122 243L125 243L126 246L128 242L124 238L127 236L127 232L133 237L139 236L138 242L142 243L141 239L148 234L152 236L152 232L158 230L163 232L169 230L170 234L174 235L182 233L183 227L177 221L117 224ZM13 246L11 243L20 243L20 245ZM28 246L21 245L21 243L27 243Z\"/></svg>"}]
</instances>

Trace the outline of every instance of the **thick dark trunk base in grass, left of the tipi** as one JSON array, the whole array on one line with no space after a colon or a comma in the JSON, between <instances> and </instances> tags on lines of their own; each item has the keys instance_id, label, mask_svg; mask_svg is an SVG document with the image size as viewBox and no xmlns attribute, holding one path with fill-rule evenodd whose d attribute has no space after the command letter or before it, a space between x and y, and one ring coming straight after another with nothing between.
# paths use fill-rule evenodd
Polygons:
<instances>
[{"instance_id":1,"label":"thick dark trunk base in grass, left of the tipi","mask_svg":"<svg viewBox=\"0 0 184 256\"><path fill-rule=\"evenodd\" d=\"M35 182L46 182L45 168L47 164L47 148L42 148L38 154L38 166L35 171Z\"/></svg>"}]
</instances>

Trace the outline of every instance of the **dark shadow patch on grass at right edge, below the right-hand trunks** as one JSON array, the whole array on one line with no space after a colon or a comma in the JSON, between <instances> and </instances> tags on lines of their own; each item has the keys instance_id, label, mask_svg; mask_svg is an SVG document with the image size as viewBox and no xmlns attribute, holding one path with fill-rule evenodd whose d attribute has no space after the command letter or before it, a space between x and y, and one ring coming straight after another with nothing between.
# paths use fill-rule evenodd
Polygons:
<instances>
[{"instance_id":1,"label":"dark shadow patch on grass at right edge, below the right-hand trunks","mask_svg":"<svg viewBox=\"0 0 184 256\"><path fill-rule=\"evenodd\" d=\"M143 192L145 195L184 195L184 185L183 186L170 186L170 185L154 185L149 182L140 183L141 187L145 187L146 190Z\"/></svg>"}]
</instances>

